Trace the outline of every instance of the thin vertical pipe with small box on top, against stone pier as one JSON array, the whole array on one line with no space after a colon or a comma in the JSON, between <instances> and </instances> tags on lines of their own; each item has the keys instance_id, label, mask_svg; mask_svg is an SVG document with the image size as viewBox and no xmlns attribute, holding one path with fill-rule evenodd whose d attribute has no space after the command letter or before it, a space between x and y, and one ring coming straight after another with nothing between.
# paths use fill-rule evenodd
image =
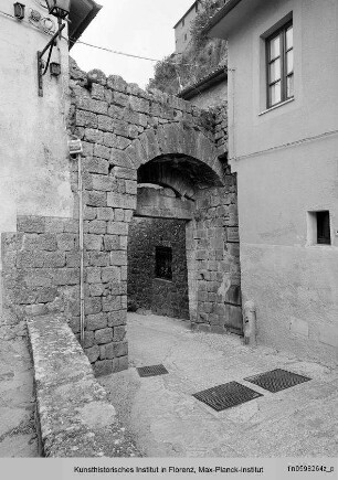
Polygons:
<instances>
[{"instance_id":1,"label":"thin vertical pipe with small box on top, against stone pier","mask_svg":"<svg viewBox=\"0 0 338 480\"><path fill-rule=\"evenodd\" d=\"M82 185L82 142L78 138L73 137L68 141L71 156L76 156L77 160L77 194L78 194L78 248L80 248L80 342L84 348L85 330L85 301L84 301L84 247L83 247L83 185ZM73 157L74 158L74 157Z\"/></svg>"}]
</instances>

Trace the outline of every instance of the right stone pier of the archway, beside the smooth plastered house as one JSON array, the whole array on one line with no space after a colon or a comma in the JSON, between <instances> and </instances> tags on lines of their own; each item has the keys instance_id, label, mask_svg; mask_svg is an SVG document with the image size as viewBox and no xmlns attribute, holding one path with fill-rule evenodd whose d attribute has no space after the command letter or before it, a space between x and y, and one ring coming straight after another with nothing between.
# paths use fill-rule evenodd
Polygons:
<instances>
[{"instance_id":1,"label":"right stone pier of the archway, beside the smooth plastered house","mask_svg":"<svg viewBox=\"0 0 338 480\"><path fill-rule=\"evenodd\" d=\"M190 317L199 330L242 333L236 178L201 191L188 223Z\"/></svg>"}]
</instances>

